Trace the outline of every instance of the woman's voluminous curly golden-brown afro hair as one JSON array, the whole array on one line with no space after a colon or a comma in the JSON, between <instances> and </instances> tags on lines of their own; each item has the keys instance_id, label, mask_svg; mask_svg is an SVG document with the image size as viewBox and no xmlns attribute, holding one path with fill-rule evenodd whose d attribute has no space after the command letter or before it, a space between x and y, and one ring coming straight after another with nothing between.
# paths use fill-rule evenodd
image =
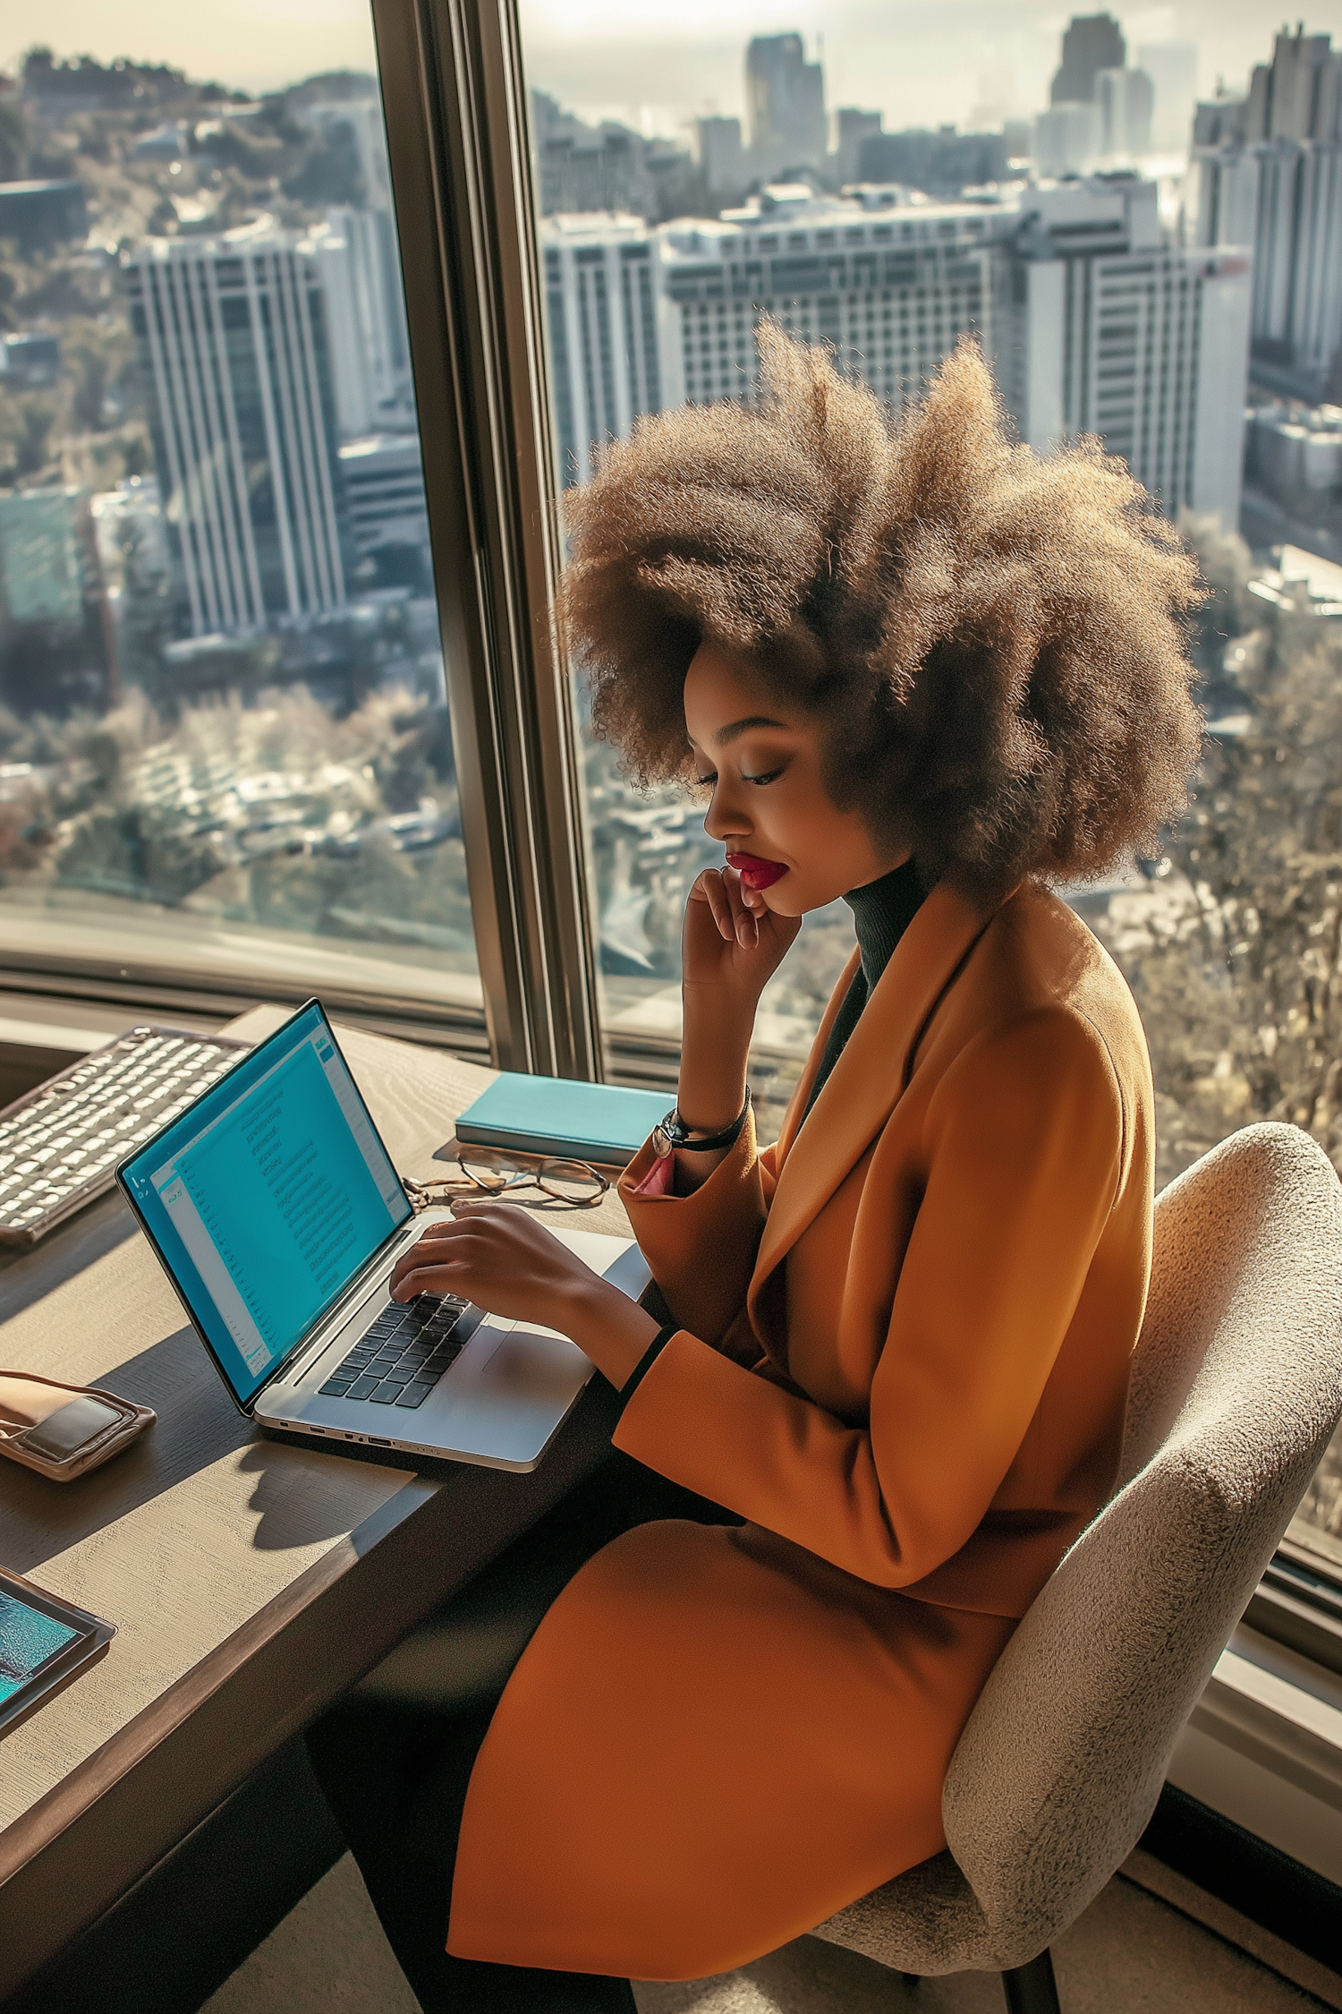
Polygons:
<instances>
[{"instance_id":1,"label":"woman's voluminous curly golden-brown afro hair","mask_svg":"<svg viewBox=\"0 0 1342 2014\"><path fill-rule=\"evenodd\" d=\"M893 421L765 322L757 409L640 419L569 499L559 598L598 735L690 781L702 642L825 719L827 785L926 876L1086 880L1151 850L1201 745L1197 568L1095 439L1012 441L964 338Z\"/></svg>"}]
</instances>

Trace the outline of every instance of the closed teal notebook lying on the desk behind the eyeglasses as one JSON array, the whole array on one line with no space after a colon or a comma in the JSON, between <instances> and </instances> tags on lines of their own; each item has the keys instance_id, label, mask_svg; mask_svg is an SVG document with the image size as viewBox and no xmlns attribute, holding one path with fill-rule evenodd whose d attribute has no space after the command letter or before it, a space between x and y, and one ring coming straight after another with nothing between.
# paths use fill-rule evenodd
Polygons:
<instances>
[{"instance_id":1,"label":"closed teal notebook lying on the desk behind the eyeglasses","mask_svg":"<svg viewBox=\"0 0 1342 2014\"><path fill-rule=\"evenodd\" d=\"M461 1114L457 1138L467 1146L511 1146L624 1168L674 1102L668 1092L505 1069Z\"/></svg>"}]
</instances>

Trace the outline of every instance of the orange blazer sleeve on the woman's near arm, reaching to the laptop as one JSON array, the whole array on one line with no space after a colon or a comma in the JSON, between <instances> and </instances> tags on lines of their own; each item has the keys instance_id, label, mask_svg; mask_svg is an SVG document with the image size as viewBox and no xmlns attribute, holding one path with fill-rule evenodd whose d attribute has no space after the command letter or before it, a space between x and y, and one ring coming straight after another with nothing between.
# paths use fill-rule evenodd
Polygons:
<instances>
[{"instance_id":1,"label":"orange blazer sleeve on the woman's near arm, reaching to the laptop","mask_svg":"<svg viewBox=\"0 0 1342 2014\"><path fill-rule=\"evenodd\" d=\"M924 1166L869 1428L682 1329L614 1436L881 1587L921 1581L982 1523L1080 1299L1123 1166L1119 1082L1091 1023L1042 1009L970 1043L930 1100Z\"/></svg>"}]
</instances>

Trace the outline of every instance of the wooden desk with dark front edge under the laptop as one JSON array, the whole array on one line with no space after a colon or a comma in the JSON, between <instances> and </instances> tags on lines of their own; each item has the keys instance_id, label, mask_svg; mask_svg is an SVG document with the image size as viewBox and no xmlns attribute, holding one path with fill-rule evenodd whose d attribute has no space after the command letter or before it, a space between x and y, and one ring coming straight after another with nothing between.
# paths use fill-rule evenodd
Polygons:
<instances>
[{"instance_id":1,"label":"wooden desk with dark front edge under the laptop","mask_svg":"<svg viewBox=\"0 0 1342 2014\"><path fill-rule=\"evenodd\" d=\"M258 1007L227 1033L286 1019ZM340 1029L340 1023L336 1023ZM404 1174L495 1075L340 1029ZM583 1229L628 1237L614 1192ZM115 1621L103 1664L0 1742L0 2002L602 1458L594 1378L531 1476L272 1440L231 1406L119 1194L0 1261L0 1363L159 1424L82 1482L0 1460L0 1561Z\"/></svg>"}]
</instances>

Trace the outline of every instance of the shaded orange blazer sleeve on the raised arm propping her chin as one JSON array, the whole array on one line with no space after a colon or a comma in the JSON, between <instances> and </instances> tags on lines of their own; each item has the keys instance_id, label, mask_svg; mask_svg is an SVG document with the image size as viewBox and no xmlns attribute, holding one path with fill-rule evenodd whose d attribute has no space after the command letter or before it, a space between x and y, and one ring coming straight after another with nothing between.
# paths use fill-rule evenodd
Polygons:
<instances>
[{"instance_id":1,"label":"shaded orange blazer sleeve on the raised arm propping her chin","mask_svg":"<svg viewBox=\"0 0 1342 2014\"><path fill-rule=\"evenodd\" d=\"M746 1112L736 1144L690 1196L638 1194L654 1158L648 1140L620 1178L620 1200L674 1319L716 1343L746 1305L773 1194L773 1148L759 1152L754 1110Z\"/></svg>"}]
</instances>

